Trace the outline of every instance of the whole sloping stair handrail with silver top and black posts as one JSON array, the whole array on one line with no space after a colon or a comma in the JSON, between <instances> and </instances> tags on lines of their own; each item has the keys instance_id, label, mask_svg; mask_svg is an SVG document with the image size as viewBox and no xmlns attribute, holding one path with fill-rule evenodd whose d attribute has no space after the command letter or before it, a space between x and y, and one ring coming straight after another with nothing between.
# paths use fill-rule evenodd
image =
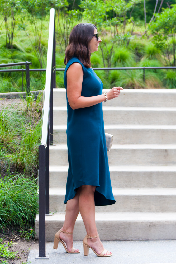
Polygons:
<instances>
[{"instance_id":1,"label":"whole sloping stair handrail with silver top and black posts","mask_svg":"<svg viewBox=\"0 0 176 264\"><path fill-rule=\"evenodd\" d=\"M53 143L53 85L55 87L55 10L50 10L42 136L39 146L39 256L45 248L45 215L49 215L49 145Z\"/></svg>"}]
</instances>

